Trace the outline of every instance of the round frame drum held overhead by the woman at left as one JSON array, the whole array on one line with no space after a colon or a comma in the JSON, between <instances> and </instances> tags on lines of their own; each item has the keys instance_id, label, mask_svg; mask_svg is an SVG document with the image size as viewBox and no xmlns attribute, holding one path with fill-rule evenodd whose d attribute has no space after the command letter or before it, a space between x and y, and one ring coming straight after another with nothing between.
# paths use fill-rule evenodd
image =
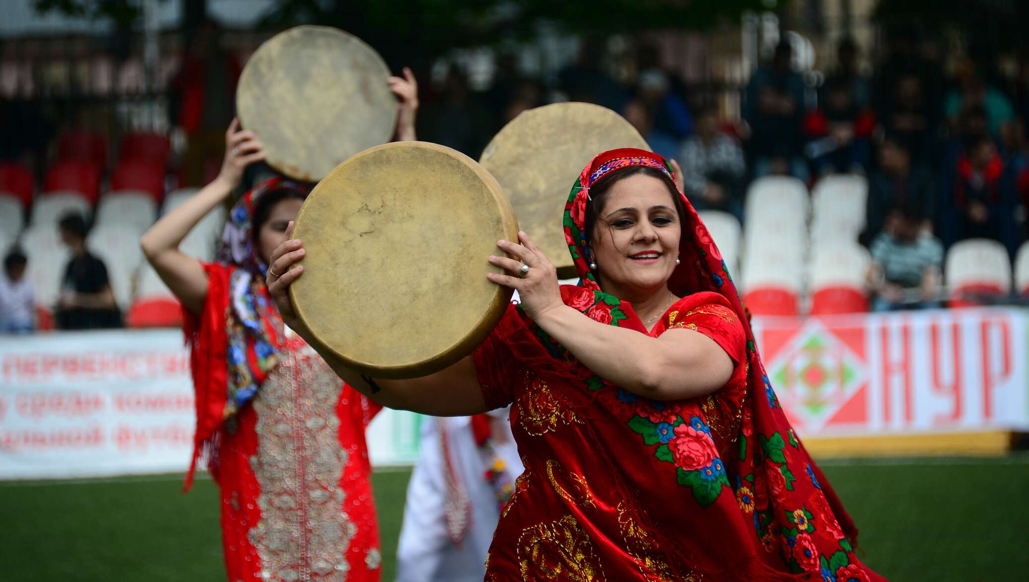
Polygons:
<instances>
[{"instance_id":1,"label":"round frame drum held overhead by the woman at left","mask_svg":"<svg viewBox=\"0 0 1029 582\"><path fill-rule=\"evenodd\" d=\"M396 125L389 68L370 46L330 27L275 35L247 61L236 90L240 124L264 144L268 165L317 182Z\"/></svg>"}]
</instances>

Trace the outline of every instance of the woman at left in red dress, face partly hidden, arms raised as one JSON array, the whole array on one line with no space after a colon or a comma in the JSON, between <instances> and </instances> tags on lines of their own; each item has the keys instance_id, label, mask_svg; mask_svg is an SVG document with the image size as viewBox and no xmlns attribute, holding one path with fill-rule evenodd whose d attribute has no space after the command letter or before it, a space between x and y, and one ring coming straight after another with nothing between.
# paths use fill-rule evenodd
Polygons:
<instances>
[{"instance_id":1,"label":"woman at left in red dress, face partly hidden, arms raised","mask_svg":"<svg viewBox=\"0 0 1029 582\"><path fill-rule=\"evenodd\" d=\"M416 85L393 77L398 137L414 139ZM379 404L344 384L283 324L265 286L272 251L307 187L275 178L228 215L213 263L182 239L239 185L263 147L234 120L218 178L158 220L140 244L183 306L197 396L191 484L200 457L220 490L229 582L378 582L382 555L364 431Z\"/></svg>"}]
</instances>

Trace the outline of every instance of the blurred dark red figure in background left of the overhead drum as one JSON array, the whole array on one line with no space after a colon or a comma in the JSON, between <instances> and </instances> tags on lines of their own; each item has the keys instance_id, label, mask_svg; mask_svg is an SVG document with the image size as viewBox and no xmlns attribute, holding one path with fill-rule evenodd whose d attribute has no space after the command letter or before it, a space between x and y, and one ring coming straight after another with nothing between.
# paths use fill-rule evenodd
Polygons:
<instances>
[{"instance_id":1,"label":"blurred dark red figure in background left of the overhead drum","mask_svg":"<svg viewBox=\"0 0 1029 582\"><path fill-rule=\"evenodd\" d=\"M183 186L201 186L217 175L242 70L236 56L221 44L221 27L211 20L203 22L186 43L182 67L171 84L175 123L187 140Z\"/></svg>"}]
</instances>

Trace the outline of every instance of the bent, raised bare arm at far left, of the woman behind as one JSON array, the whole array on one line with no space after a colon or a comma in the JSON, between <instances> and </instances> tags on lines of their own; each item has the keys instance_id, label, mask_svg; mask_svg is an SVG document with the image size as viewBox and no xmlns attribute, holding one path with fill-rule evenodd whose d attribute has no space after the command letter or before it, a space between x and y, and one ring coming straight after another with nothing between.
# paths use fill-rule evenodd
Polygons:
<instances>
[{"instance_id":1,"label":"bent, raised bare arm at far left, of the woman behind","mask_svg":"<svg viewBox=\"0 0 1029 582\"><path fill-rule=\"evenodd\" d=\"M257 137L239 128L239 120L233 119L225 132L225 157L218 177L162 217L139 241L157 276L193 314L200 314L204 307L207 274L199 260L179 251L179 244L207 213L232 195L248 165L264 159L264 146Z\"/></svg>"}]
</instances>

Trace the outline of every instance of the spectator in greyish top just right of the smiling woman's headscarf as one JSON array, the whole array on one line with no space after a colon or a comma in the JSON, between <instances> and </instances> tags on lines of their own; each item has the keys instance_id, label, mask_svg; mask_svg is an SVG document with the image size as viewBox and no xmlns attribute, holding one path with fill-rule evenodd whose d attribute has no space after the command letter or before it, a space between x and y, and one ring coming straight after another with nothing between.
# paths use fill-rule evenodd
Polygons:
<instances>
[{"instance_id":1,"label":"spectator in greyish top just right of the smiling woman's headscarf","mask_svg":"<svg viewBox=\"0 0 1029 582\"><path fill-rule=\"evenodd\" d=\"M697 113L697 133L682 146L682 188L697 210L721 210L743 221L747 167L743 148L720 131L713 108Z\"/></svg>"}]
</instances>

